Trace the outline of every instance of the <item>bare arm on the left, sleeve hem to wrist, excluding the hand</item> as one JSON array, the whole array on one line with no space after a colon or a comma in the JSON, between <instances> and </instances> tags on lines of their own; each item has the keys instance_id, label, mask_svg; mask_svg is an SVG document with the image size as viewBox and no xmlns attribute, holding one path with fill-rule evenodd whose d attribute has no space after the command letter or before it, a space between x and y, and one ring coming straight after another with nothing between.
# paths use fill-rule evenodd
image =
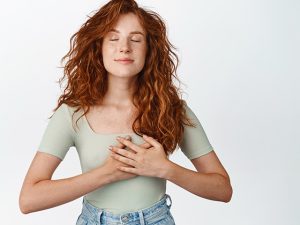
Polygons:
<instances>
[{"instance_id":1,"label":"bare arm on the left, sleeve hem to wrist, excluding the hand","mask_svg":"<svg viewBox=\"0 0 300 225\"><path fill-rule=\"evenodd\" d=\"M106 167L98 167L70 178L51 180L60 162L61 159L55 156L37 152L19 196L22 213L27 214L70 202L113 181Z\"/></svg>"}]
</instances>

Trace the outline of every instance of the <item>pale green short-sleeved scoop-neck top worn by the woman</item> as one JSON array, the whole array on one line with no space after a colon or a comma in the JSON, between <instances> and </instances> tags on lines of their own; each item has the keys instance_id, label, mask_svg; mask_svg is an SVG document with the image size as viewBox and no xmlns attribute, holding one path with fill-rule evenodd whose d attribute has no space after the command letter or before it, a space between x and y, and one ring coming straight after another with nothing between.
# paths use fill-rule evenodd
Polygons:
<instances>
[{"instance_id":1,"label":"pale green short-sleeved scoop-neck top worn by the woman","mask_svg":"<svg viewBox=\"0 0 300 225\"><path fill-rule=\"evenodd\" d=\"M199 120L186 105L188 117L197 124L197 128L185 126L182 143L177 145L188 159L194 159L210 151L210 144ZM71 118L74 109L62 104L49 120L38 147L39 152L46 152L63 160L74 146L80 159L82 173L101 166L110 151L109 145L117 145L117 136L130 135L132 142L139 145L144 143L142 137L135 133L95 133L89 126L86 117L78 121L77 133L72 127ZM74 124L83 113L78 111L74 116ZM175 151L176 152L176 151ZM175 153L174 152L174 153ZM92 205L113 213L125 213L147 208L160 200L166 193L166 180L156 177L136 176L107 184L84 196Z\"/></svg>"}]
</instances>

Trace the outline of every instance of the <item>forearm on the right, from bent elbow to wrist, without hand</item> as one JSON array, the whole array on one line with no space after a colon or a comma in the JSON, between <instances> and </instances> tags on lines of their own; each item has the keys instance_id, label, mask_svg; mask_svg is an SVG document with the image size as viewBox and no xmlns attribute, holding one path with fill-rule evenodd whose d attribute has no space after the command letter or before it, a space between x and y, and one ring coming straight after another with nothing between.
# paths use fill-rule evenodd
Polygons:
<instances>
[{"instance_id":1,"label":"forearm on the right, from bent elbow to wrist, without hand","mask_svg":"<svg viewBox=\"0 0 300 225\"><path fill-rule=\"evenodd\" d=\"M206 199L229 202L232 187L228 179L217 173L200 173L170 161L162 178Z\"/></svg>"}]
</instances>

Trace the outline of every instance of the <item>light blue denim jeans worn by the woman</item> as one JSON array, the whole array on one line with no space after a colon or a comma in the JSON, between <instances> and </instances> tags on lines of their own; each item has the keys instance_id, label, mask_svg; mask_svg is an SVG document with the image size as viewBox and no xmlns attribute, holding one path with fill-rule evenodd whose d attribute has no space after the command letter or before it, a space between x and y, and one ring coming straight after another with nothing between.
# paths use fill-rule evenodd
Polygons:
<instances>
[{"instance_id":1,"label":"light blue denim jeans worn by the woman","mask_svg":"<svg viewBox=\"0 0 300 225\"><path fill-rule=\"evenodd\" d=\"M169 199L170 204L167 204ZM170 208L172 199L165 194L158 202L148 208L122 214L100 209L85 200L82 201L82 212L76 225L175 225Z\"/></svg>"}]
</instances>

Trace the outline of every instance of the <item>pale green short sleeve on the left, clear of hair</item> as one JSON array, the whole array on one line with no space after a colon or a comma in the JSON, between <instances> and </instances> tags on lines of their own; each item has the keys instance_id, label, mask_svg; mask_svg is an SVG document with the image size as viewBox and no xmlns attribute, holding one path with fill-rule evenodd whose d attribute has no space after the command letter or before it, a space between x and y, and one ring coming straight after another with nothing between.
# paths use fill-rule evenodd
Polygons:
<instances>
[{"instance_id":1,"label":"pale green short sleeve on the left, clear of hair","mask_svg":"<svg viewBox=\"0 0 300 225\"><path fill-rule=\"evenodd\" d=\"M38 151L46 152L63 160L74 146L74 130L71 126L71 117L68 106L63 103L54 112L44 131Z\"/></svg>"}]
</instances>

